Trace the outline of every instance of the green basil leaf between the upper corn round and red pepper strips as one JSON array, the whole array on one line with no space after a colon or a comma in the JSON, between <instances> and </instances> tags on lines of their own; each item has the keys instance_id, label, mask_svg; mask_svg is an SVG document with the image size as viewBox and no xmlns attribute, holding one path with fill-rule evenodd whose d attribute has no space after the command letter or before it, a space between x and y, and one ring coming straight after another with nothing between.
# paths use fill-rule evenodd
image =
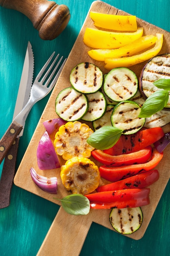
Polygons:
<instances>
[{"instance_id":1,"label":"green basil leaf between the upper corn round and red pepper strips","mask_svg":"<svg viewBox=\"0 0 170 256\"><path fill-rule=\"evenodd\" d=\"M108 149L116 144L122 132L114 126L103 126L88 137L87 143L96 149Z\"/></svg>"}]
</instances>

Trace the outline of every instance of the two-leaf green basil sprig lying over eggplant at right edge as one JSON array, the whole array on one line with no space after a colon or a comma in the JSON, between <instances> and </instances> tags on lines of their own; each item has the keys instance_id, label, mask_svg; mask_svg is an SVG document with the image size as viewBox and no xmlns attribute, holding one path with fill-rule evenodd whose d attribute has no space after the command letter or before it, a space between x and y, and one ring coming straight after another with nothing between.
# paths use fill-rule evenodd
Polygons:
<instances>
[{"instance_id":1,"label":"two-leaf green basil sprig lying over eggplant at right edge","mask_svg":"<svg viewBox=\"0 0 170 256\"><path fill-rule=\"evenodd\" d=\"M157 88L163 90L157 90L152 93L144 102L141 107L141 111L138 117L151 117L158 111L161 111L168 103L170 79L159 79L153 83Z\"/></svg>"}]
</instances>

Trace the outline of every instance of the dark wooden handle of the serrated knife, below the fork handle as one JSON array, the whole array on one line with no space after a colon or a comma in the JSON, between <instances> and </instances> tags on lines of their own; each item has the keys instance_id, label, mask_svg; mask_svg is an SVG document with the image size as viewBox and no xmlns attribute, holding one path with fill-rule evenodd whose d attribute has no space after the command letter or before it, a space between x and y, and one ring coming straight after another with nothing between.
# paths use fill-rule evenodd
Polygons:
<instances>
[{"instance_id":1,"label":"dark wooden handle of the serrated knife, below the fork handle","mask_svg":"<svg viewBox=\"0 0 170 256\"><path fill-rule=\"evenodd\" d=\"M10 204L10 195L15 175L19 141L20 137L17 137L4 159L0 179L0 209L8 207Z\"/></svg>"}]
</instances>

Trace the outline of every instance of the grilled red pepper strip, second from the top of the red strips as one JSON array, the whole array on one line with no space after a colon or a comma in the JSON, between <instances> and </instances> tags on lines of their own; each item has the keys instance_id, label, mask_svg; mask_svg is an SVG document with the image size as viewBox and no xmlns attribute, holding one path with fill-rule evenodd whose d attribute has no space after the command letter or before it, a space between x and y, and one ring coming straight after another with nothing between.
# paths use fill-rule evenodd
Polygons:
<instances>
[{"instance_id":1,"label":"grilled red pepper strip, second from the top of the red strips","mask_svg":"<svg viewBox=\"0 0 170 256\"><path fill-rule=\"evenodd\" d=\"M122 154L122 155L109 155L104 153L102 150L93 150L92 156L98 162L109 166L124 166L130 164L142 164L148 161L152 156L152 147L148 146L137 152Z\"/></svg>"}]
</instances>

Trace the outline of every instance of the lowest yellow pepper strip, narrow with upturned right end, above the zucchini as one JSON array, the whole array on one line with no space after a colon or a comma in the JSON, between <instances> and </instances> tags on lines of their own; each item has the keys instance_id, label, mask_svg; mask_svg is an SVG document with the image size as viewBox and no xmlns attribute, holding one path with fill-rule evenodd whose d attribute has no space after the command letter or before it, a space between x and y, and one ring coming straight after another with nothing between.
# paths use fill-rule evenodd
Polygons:
<instances>
[{"instance_id":1,"label":"lowest yellow pepper strip, narrow with upturned right end, above the zucchini","mask_svg":"<svg viewBox=\"0 0 170 256\"><path fill-rule=\"evenodd\" d=\"M130 57L122 58L105 58L106 65L104 66L107 70L112 70L115 67L130 67L136 64L139 64L143 61L147 61L150 58L156 56L163 44L163 34L157 34L157 41L155 46L152 49L147 50L141 54L133 55Z\"/></svg>"}]
</instances>

